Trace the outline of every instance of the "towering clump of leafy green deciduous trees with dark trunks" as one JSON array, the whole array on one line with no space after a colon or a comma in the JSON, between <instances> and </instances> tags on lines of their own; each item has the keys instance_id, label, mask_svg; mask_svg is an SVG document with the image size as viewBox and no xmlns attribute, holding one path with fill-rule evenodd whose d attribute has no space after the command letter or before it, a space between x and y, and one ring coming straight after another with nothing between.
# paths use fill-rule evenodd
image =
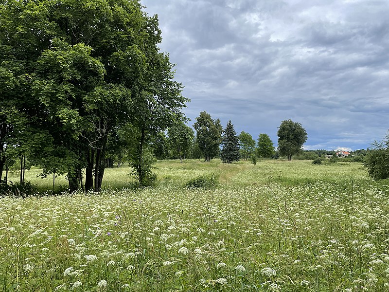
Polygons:
<instances>
[{"instance_id":1,"label":"towering clump of leafy green deciduous trees with dark trunks","mask_svg":"<svg viewBox=\"0 0 389 292\"><path fill-rule=\"evenodd\" d=\"M139 0L8 0L0 15L0 170L4 145L21 154L24 146L47 172L66 168L71 191L83 168L85 189L99 191L108 137L131 123L142 178L150 137L182 116L187 101L159 52L158 18ZM4 109L23 123L5 119Z\"/></svg>"}]
</instances>

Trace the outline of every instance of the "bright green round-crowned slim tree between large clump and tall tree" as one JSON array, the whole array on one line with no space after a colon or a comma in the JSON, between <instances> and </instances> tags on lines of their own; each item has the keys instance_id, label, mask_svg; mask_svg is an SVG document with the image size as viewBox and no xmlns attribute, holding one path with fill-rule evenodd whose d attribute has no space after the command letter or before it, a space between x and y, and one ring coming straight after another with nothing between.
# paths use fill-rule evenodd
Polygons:
<instances>
[{"instance_id":1,"label":"bright green round-crowned slim tree between large clump and tall tree","mask_svg":"<svg viewBox=\"0 0 389 292\"><path fill-rule=\"evenodd\" d=\"M174 153L178 155L182 163L182 155L189 150L194 139L192 128L185 125L183 122L176 122L172 127L168 128L169 144Z\"/></svg>"}]
</instances>

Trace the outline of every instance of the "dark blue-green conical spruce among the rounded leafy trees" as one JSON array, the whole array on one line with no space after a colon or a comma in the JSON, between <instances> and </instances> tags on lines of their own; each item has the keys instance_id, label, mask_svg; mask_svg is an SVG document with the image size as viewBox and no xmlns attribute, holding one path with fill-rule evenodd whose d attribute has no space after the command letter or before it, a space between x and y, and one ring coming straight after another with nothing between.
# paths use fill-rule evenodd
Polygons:
<instances>
[{"instance_id":1,"label":"dark blue-green conical spruce among the rounded leafy trees","mask_svg":"<svg viewBox=\"0 0 389 292\"><path fill-rule=\"evenodd\" d=\"M223 148L220 153L220 158L223 163L232 163L234 161L239 161L239 139L236 135L231 120L228 121L227 126L224 129L222 145Z\"/></svg>"}]
</instances>

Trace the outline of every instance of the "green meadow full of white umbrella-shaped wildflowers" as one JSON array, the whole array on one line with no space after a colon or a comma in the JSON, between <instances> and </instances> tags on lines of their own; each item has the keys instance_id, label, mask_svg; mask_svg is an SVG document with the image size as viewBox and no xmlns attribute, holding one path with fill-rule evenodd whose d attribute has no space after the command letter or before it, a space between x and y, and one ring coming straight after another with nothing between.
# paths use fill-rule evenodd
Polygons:
<instances>
[{"instance_id":1,"label":"green meadow full of white umbrella-shaped wildflowers","mask_svg":"<svg viewBox=\"0 0 389 292\"><path fill-rule=\"evenodd\" d=\"M0 291L389 291L388 182L362 164L156 167L154 189L121 167L100 194L0 198Z\"/></svg>"}]
</instances>

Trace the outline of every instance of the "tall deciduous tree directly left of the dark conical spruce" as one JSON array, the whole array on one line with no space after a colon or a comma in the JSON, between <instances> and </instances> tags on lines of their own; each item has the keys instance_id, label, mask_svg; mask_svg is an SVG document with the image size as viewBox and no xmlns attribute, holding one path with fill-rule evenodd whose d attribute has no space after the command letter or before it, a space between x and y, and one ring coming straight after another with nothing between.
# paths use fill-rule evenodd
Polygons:
<instances>
[{"instance_id":1,"label":"tall deciduous tree directly left of the dark conical spruce","mask_svg":"<svg viewBox=\"0 0 389 292\"><path fill-rule=\"evenodd\" d=\"M212 120L212 117L206 111L201 111L194 124L197 132L197 144L204 154L206 161L211 161L219 154L222 136L222 125L220 120Z\"/></svg>"}]
</instances>

